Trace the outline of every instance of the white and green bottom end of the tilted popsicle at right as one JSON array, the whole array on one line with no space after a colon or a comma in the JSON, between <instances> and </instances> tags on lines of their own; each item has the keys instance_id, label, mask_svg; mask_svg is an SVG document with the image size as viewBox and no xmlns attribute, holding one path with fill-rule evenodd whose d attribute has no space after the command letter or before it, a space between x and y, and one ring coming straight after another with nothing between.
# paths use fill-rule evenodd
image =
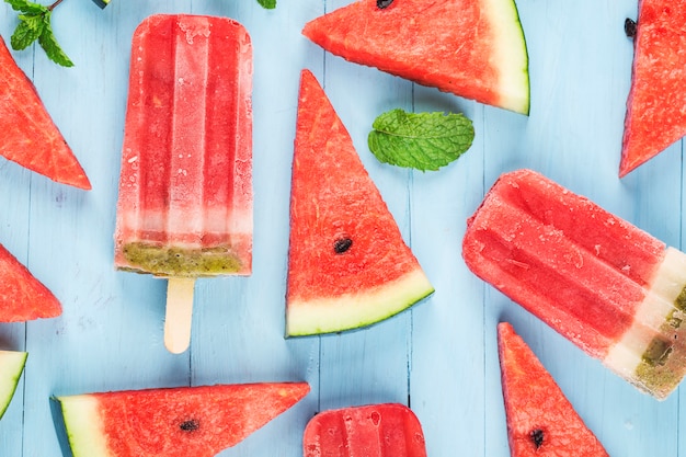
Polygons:
<instances>
[{"instance_id":1,"label":"white and green bottom end of the tilted popsicle at right","mask_svg":"<svg viewBox=\"0 0 686 457\"><path fill-rule=\"evenodd\" d=\"M637 309L632 325L610 347L603 359L603 363L619 376L659 399L666 398L676 388L686 370L684 366L686 362L660 364L662 367L666 366L666 368L662 368L663 372L666 369L666 374L659 373L660 369L655 369L651 376L639 372L641 366L648 365L644 362L644 354L649 352L656 338L670 342L672 353L666 354L666 357L675 359L686 355L674 353L674 347L678 349L686 343L678 338L681 333L686 332L686 329L679 329L682 321L686 328L686 320L684 320L686 315L675 306L676 299L685 286L686 254L674 248L667 248L665 258L653 276L645 298Z\"/></svg>"}]
</instances>

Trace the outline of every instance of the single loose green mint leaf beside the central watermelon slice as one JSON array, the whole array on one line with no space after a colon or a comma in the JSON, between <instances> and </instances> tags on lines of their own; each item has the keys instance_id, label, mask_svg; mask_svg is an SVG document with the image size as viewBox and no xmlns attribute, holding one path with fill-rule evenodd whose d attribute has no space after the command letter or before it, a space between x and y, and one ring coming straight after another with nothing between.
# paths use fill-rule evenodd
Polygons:
<instances>
[{"instance_id":1,"label":"single loose green mint leaf beside the central watermelon slice","mask_svg":"<svg viewBox=\"0 0 686 457\"><path fill-rule=\"evenodd\" d=\"M391 110L371 127L367 142L380 162L421 171L436 171L457 160L475 139L471 121L454 113Z\"/></svg>"}]
</instances>

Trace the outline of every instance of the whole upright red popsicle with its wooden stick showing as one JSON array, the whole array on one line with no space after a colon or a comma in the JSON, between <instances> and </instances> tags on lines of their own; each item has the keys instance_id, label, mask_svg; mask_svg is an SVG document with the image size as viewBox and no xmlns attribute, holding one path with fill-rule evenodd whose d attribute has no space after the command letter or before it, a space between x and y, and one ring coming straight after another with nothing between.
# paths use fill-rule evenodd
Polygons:
<instances>
[{"instance_id":1,"label":"whole upright red popsicle with its wooden stick showing","mask_svg":"<svg viewBox=\"0 0 686 457\"><path fill-rule=\"evenodd\" d=\"M164 344L185 351L197 277L252 269L252 45L228 18L136 28L114 261L169 278Z\"/></svg>"}]
</instances>

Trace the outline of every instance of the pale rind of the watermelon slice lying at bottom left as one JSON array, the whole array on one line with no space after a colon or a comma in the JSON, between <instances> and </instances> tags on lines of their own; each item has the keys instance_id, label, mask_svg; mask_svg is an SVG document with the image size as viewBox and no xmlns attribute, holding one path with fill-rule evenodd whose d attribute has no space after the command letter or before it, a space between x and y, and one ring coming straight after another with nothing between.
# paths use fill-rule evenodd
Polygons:
<instances>
[{"instance_id":1,"label":"pale rind of the watermelon slice lying at bottom left","mask_svg":"<svg viewBox=\"0 0 686 457\"><path fill-rule=\"evenodd\" d=\"M104 423L93 396L57 397L73 457L108 456Z\"/></svg>"}]
</instances>

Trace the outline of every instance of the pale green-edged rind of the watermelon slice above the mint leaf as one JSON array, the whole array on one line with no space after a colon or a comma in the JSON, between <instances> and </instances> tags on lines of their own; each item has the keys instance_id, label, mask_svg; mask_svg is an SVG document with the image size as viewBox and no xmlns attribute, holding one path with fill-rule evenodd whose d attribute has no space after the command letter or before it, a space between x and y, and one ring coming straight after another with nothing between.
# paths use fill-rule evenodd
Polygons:
<instances>
[{"instance_id":1,"label":"pale green-edged rind of the watermelon slice above the mint leaf","mask_svg":"<svg viewBox=\"0 0 686 457\"><path fill-rule=\"evenodd\" d=\"M514 1L489 0L489 13L500 39L493 47L492 58L503 76L498 93L501 107L521 114L529 114L530 81L529 57L524 27ZM508 7L508 8L505 8Z\"/></svg>"}]
</instances>

